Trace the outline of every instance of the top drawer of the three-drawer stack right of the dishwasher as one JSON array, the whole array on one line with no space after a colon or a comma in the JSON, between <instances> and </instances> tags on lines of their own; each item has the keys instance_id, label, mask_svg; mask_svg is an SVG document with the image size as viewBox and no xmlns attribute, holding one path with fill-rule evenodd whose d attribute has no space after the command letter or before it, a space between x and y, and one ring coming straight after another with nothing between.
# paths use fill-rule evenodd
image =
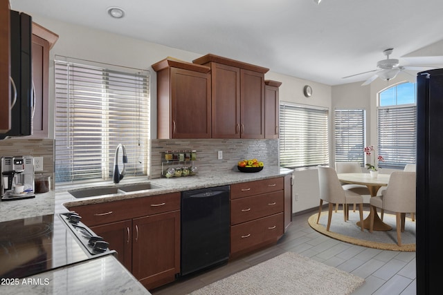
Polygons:
<instances>
[{"instance_id":1,"label":"top drawer of the three-drawer stack right of the dishwasher","mask_svg":"<svg viewBox=\"0 0 443 295\"><path fill-rule=\"evenodd\" d=\"M283 178L270 178L230 185L230 198L243 198L283 189Z\"/></svg>"}]
</instances>

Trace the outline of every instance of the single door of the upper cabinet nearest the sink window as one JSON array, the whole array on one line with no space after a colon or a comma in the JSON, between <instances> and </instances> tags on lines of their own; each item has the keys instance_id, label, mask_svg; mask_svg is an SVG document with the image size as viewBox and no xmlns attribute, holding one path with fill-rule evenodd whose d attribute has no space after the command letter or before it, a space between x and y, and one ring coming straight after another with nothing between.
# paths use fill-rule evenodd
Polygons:
<instances>
[{"instance_id":1,"label":"single door of the upper cabinet nearest the sink window","mask_svg":"<svg viewBox=\"0 0 443 295\"><path fill-rule=\"evenodd\" d=\"M210 75L170 68L172 138L210 138Z\"/></svg>"}]
</instances>

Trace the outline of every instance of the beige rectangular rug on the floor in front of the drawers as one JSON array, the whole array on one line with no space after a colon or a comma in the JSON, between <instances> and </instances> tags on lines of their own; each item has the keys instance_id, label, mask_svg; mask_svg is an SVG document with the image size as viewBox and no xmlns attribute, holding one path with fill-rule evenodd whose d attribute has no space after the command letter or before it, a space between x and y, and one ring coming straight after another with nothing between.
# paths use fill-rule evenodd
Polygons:
<instances>
[{"instance_id":1,"label":"beige rectangular rug on the floor in front of the drawers","mask_svg":"<svg viewBox=\"0 0 443 295\"><path fill-rule=\"evenodd\" d=\"M191 294L350 294L364 281L335 267L286 252Z\"/></svg>"}]
</instances>

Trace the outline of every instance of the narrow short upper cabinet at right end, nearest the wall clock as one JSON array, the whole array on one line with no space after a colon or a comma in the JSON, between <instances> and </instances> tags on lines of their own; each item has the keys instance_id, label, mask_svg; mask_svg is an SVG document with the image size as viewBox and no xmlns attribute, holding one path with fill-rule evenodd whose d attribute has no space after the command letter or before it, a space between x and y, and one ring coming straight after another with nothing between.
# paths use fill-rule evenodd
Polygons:
<instances>
[{"instance_id":1,"label":"narrow short upper cabinet at right end, nearest the wall clock","mask_svg":"<svg viewBox=\"0 0 443 295\"><path fill-rule=\"evenodd\" d=\"M279 111L278 87L282 82L264 80L264 137L278 138Z\"/></svg>"}]
</instances>

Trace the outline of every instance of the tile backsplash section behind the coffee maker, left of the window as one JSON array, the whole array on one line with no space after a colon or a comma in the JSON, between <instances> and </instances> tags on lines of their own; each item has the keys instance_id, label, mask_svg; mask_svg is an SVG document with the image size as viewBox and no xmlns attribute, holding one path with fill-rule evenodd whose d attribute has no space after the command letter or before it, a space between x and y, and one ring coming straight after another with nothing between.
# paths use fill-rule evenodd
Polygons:
<instances>
[{"instance_id":1,"label":"tile backsplash section behind the coffee maker, left of the window","mask_svg":"<svg viewBox=\"0 0 443 295\"><path fill-rule=\"evenodd\" d=\"M35 175L51 176L51 189L54 189L54 140L7 138L0 140L0 156L32 155L43 157L43 171Z\"/></svg>"}]
</instances>

